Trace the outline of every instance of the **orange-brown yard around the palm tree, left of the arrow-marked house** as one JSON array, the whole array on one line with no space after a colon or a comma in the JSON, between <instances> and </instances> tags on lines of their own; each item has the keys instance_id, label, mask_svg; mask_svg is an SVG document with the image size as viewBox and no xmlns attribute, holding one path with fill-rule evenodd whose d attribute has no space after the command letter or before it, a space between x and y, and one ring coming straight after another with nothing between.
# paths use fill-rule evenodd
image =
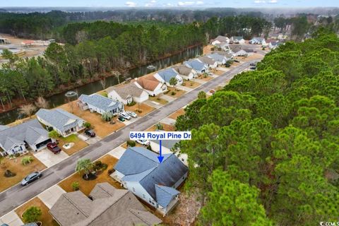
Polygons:
<instances>
[{"instance_id":1,"label":"orange-brown yard around the palm tree, left of the arrow-marked house","mask_svg":"<svg viewBox=\"0 0 339 226\"><path fill-rule=\"evenodd\" d=\"M73 191L72 189L72 183L78 182L80 184L80 191L83 192L86 196L90 194L90 191L94 188L95 184L102 183L102 182L108 182L109 184L112 184L117 189L121 189L121 186L118 182L116 182L112 177L109 177L108 170L112 169L115 164L117 164L118 160L115 157L112 157L111 155L105 155L104 157L101 157L99 159L102 161L102 163L106 163L108 165L107 169L102 172L102 174L97 176L97 179L93 181L85 181L83 179L83 174L72 174L71 177L68 177L64 181L59 183L59 186L61 186L62 189L64 189L66 192Z\"/></svg>"}]
</instances>

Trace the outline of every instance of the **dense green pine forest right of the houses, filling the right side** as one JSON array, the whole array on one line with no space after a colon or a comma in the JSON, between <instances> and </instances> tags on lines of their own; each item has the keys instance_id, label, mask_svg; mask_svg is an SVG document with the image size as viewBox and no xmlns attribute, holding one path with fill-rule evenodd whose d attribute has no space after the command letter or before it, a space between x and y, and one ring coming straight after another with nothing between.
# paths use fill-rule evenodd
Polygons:
<instances>
[{"instance_id":1,"label":"dense green pine forest right of the houses, filling the right side","mask_svg":"<svg viewBox=\"0 0 339 226\"><path fill-rule=\"evenodd\" d=\"M201 225L339 220L339 38L287 42L177 119Z\"/></svg>"}]
</instances>

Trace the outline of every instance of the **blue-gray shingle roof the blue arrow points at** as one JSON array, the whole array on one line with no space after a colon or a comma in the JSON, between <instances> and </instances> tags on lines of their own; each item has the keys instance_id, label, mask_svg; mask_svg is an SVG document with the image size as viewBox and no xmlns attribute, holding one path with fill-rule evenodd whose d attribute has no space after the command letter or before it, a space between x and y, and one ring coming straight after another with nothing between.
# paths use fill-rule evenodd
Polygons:
<instances>
[{"instance_id":1,"label":"blue-gray shingle roof the blue arrow points at","mask_svg":"<svg viewBox=\"0 0 339 226\"><path fill-rule=\"evenodd\" d=\"M139 182L157 201L155 185L174 186L188 168L174 154L166 154L159 164L157 153L146 148L128 148L114 169L125 175L124 181Z\"/></svg>"}]
</instances>

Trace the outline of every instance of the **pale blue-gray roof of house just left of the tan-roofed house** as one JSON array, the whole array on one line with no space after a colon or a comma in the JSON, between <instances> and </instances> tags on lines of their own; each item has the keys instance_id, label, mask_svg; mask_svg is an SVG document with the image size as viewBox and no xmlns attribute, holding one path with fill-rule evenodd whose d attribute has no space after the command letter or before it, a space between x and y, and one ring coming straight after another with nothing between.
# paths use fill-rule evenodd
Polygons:
<instances>
[{"instance_id":1,"label":"pale blue-gray roof of house just left of the tan-roofed house","mask_svg":"<svg viewBox=\"0 0 339 226\"><path fill-rule=\"evenodd\" d=\"M82 94L79 97L79 100L81 100L81 102L85 102L86 104L93 105L99 109L102 109L104 112L110 112L113 109L122 107L121 102L114 101L112 99L109 99L108 97L104 97L96 93L92 95Z\"/></svg>"}]
</instances>

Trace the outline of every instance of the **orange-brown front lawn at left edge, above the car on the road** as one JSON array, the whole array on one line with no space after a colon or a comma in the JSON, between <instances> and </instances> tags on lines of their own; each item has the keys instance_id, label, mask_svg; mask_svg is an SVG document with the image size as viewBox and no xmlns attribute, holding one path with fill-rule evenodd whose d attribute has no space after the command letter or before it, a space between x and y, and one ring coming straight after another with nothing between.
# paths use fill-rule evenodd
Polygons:
<instances>
[{"instance_id":1,"label":"orange-brown front lawn at left edge, above the car on the road","mask_svg":"<svg viewBox=\"0 0 339 226\"><path fill-rule=\"evenodd\" d=\"M22 165L21 159L25 156L32 156L33 161L28 165ZM0 191L4 191L9 187L20 182L24 177L26 177L31 172L41 171L46 169L46 166L42 164L37 158L35 158L31 153L16 157L13 160L8 160L6 157L0 159ZM16 173L15 177L5 177L4 172L6 169L11 170L11 172Z\"/></svg>"}]
</instances>

